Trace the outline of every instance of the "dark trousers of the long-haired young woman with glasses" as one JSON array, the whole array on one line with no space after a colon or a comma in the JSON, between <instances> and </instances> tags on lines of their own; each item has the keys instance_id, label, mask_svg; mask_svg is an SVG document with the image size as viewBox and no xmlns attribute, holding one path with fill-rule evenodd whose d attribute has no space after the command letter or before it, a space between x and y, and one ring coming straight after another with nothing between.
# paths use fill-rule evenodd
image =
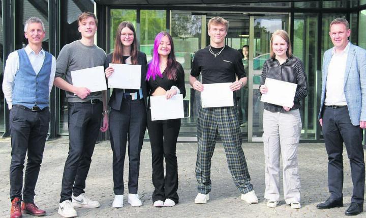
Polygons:
<instances>
[{"instance_id":1,"label":"dark trousers of the long-haired young woman with glasses","mask_svg":"<svg viewBox=\"0 0 366 218\"><path fill-rule=\"evenodd\" d=\"M111 108L109 115L110 141L113 151L113 192L124 194L124 165L128 141L130 194L137 194L140 173L140 153L146 130L146 106L143 99L123 99L119 111Z\"/></svg>"}]
</instances>

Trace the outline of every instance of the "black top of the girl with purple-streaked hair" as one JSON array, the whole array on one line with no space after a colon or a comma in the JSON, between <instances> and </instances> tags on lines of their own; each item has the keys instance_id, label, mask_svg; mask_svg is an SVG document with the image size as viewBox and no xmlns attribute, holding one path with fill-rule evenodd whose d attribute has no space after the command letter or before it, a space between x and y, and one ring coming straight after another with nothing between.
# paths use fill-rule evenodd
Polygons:
<instances>
[{"instance_id":1,"label":"black top of the girl with purple-streaked hair","mask_svg":"<svg viewBox=\"0 0 366 218\"><path fill-rule=\"evenodd\" d=\"M177 63L177 80L168 79L168 76L166 75L166 70L163 72L163 77L160 77L156 75L155 80L151 76L149 80L147 81L147 90L149 90L148 95L151 96L151 93L153 93L158 87L161 87L165 90L170 90L172 86L178 87L180 94L183 95L183 97L186 96L186 88L185 88L185 81L184 81L184 70L183 67Z\"/></svg>"}]
</instances>

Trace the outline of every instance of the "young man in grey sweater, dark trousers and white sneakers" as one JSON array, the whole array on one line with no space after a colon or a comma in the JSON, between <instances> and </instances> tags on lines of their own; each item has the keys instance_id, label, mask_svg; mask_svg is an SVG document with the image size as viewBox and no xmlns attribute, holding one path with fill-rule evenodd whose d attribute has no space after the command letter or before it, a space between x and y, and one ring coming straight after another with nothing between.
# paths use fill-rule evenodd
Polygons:
<instances>
[{"instance_id":1,"label":"young man in grey sweater, dark trousers and white sneakers","mask_svg":"<svg viewBox=\"0 0 366 218\"><path fill-rule=\"evenodd\" d=\"M93 13L82 13L78 18L81 39L65 45L56 60L54 85L66 91L69 113L69 155L58 207L64 217L77 216L74 207L100 206L85 196L84 188L99 130L108 129L107 92L90 93L85 87L73 86L71 79L71 71L104 65L106 53L94 44L97 23Z\"/></svg>"}]
</instances>

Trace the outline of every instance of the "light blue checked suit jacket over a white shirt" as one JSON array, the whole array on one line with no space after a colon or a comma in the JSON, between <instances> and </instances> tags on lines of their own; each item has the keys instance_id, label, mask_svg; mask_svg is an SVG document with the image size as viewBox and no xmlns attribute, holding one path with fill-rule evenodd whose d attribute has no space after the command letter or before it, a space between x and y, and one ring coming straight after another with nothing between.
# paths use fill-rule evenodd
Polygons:
<instances>
[{"instance_id":1,"label":"light blue checked suit jacket over a white shirt","mask_svg":"<svg viewBox=\"0 0 366 218\"><path fill-rule=\"evenodd\" d=\"M353 45L351 42L348 50L346 72L343 91L346 96L349 116L354 126L358 126L360 120L366 121L366 50ZM328 49L323 57L323 82L318 118L322 118L325 99L325 85L328 74L328 66L332 57L332 50Z\"/></svg>"}]
</instances>

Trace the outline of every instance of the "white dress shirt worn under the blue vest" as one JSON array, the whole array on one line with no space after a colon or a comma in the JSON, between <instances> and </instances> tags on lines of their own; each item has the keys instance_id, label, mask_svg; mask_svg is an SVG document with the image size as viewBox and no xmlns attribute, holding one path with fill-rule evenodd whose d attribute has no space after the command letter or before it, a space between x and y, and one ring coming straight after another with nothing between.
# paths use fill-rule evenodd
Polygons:
<instances>
[{"instance_id":1,"label":"white dress shirt worn under the blue vest","mask_svg":"<svg viewBox=\"0 0 366 218\"><path fill-rule=\"evenodd\" d=\"M29 45L24 48L29 61L32 64L33 70L38 75L39 71L43 66L43 62L46 56L46 53L43 49L36 55L36 52L32 50ZM19 56L17 51L13 51L8 56L6 61L5 70L4 70L4 80L3 80L3 92L4 96L7 100L9 110L12 108L13 105L13 86L14 86L14 77L16 72L19 70ZM50 80L48 83L48 95L51 93L53 80L56 73L56 59L52 56L52 64L51 64L51 74Z\"/></svg>"}]
</instances>

